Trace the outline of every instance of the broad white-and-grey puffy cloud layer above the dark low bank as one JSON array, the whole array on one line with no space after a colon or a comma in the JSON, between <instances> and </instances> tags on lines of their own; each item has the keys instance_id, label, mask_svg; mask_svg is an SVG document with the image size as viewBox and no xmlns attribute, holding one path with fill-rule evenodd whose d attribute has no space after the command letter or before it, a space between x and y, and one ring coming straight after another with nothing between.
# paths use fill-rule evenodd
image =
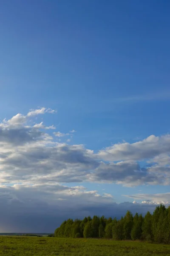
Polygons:
<instances>
[{"instance_id":1,"label":"broad white-and-grey puffy cloud layer above the dark low bank","mask_svg":"<svg viewBox=\"0 0 170 256\"><path fill-rule=\"evenodd\" d=\"M0 124L0 178L2 184L37 182L105 182L123 186L170 184L170 136L150 136L136 143L119 143L100 150L55 142L47 133L55 129L34 122L50 108L17 114ZM44 132L45 131L45 132ZM74 131L74 130L73 130ZM72 132L73 132L72 131ZM69 134L53 132L54 136ZM68 138L67 142L70 142ZM140 160L146 159L146 166ZM107 161L106 161L107 160Z\"/></svg>"}]
</instances>

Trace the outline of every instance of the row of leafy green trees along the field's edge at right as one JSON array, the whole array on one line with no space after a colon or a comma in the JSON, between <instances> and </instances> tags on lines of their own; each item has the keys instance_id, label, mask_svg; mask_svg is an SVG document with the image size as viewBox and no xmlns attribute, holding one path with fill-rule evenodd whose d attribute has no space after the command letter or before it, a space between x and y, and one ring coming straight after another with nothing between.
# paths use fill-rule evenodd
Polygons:
<instances>
[{"instance_id":1,"label":"row of leafy green trees along the field's edge at right","mask_svg":"<svg viewBox=\"0 0 170 256\"><path fill-rule=\"evenodd\" d=\"M55 237L106 238L114 240L144 240L156 243L170 243L170 207L157 206L153 214L130 211L121 219L94 215L83 220L68 219L55 230Z\"/></svg>"}]
</instances>

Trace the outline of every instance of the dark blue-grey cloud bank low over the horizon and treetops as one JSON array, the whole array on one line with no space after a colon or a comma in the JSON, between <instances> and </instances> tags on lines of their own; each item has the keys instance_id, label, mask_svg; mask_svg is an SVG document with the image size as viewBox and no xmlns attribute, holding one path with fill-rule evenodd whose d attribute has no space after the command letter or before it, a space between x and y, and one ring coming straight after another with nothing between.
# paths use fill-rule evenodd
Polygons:
<instances>
[{"instance_id":1,"label":"dark blue-grey cloud bank low over the horizon and treetops","mask_svg":"<svg viewBox=\"0 0 170 256\"><path fill-rule=\"evenodd\" d=\"M133 214L153 212L153 204L116 204L109 194L99 195L82 186L57 183L0 187L1 232L53 233L67 218L105 215L120 218L127 209Z\"/></svg>"}]
</instances>

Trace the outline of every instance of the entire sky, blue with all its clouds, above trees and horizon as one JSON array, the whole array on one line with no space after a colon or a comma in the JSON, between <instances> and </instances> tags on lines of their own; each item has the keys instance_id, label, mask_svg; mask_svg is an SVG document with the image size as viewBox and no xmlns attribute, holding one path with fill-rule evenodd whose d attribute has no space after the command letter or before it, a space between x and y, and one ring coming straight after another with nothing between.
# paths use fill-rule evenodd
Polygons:
<instances>
[{"instance_id":1,"label":"entire sky, blue with all its clouds, above trees and horizon","mask_svg":"<svg viewBox=\"0 0 170 256\"><path fill-rule=\"evenodd\" d=\"M0 1L0 232L170 204L169 9Z\"/></svg>"}]
</instances>

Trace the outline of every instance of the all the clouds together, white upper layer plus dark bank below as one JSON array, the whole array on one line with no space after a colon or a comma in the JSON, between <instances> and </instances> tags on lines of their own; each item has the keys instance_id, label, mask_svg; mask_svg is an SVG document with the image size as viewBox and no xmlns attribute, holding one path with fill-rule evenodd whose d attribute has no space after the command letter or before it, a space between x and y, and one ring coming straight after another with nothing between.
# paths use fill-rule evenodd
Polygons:
<instances>
[{"instance_id":1,"label":"all the clouds together, white upper layer plus dark bank below","mask_svg":"<svg viewBox=\"0 0 170 256\"><path fill-rule=\"evenodd\" d=\"M26 232L51 232L52 226L68 217L68 212L73 218L99 213L116 216L125 214L127 209L146 212L153 210L155 202L168 203L167 195L159 198L158 194L140 194L129 197L142 200L143 204L116 204L111 195L99 195L80 185L170 185L169 134L151 135L136 143L118 143L94 153L84 145L67 143L75 136L74 129L62 133L53 124L37 122L38 116L55 113L50 108L38 108L0 123L0 219L4 228L9 218L13 221L6 225L6 231L24 232L21 228L25 229L25 218L30 220ZM42 218L45 224L31 226L33 218ZM28 230L31 228L34 230Z\"/></svg>"}]
</instances>

